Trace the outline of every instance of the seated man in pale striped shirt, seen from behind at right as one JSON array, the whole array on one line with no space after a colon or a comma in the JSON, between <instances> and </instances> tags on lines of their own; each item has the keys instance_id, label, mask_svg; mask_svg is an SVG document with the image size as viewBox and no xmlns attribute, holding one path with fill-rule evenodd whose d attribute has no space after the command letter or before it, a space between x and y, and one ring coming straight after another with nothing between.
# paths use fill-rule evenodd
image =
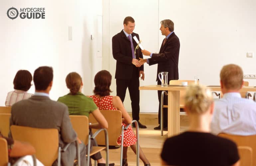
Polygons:
<instances>
[{"instance_id":1,"label":"seated man in pale striped shirt, seen from behind at right","mask_svg":"<svg viewBox=\"0 0 256 166\"><path fill-rule=\"evenodd\" d=\"M235 64L228 64L220 71L223 98L215 101L211 132L234 135L256 134L256 103L241 98L243 71Z\"/></svg>"}]
</instances>

